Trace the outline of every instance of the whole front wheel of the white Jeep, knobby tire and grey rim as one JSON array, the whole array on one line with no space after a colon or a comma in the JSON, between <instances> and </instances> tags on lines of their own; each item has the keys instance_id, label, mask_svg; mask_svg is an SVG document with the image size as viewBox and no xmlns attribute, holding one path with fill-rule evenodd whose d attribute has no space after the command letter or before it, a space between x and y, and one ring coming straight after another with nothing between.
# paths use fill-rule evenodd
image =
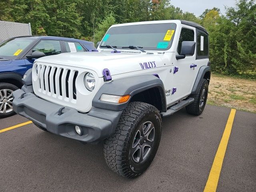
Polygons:
<instances>
[{"instance_id":1,"label":"whole front wheel of the white Jeep, knobby tire and grey rim","mask_svg":"<svg viewBox=\"0 0 256 192\"><path fill-rule=\"evenodd\" d=\"M126 178L136 178L151 164L161 138L162 120L157 108L143 102L128 104L115 133L104 142L108 166Z\"/></svg>"}]
</instances>

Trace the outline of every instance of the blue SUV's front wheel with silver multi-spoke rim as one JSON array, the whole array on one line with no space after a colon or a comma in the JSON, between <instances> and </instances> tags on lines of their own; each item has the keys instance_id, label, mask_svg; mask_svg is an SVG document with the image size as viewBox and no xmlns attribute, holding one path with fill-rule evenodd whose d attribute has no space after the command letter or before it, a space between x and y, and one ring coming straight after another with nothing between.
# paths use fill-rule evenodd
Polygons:
<instances>
[{"instance_id":1,"label":"blue SUV's front wheel with silver multi-spoke rim","mask_svg":"<svg viewBox=\"0 0 256 192\"><path fill-rule=\"evenodd\" d=\"M18 87L10 83L0 83L0 118L6 118L15 114L12 108L12 92Z\"/></svg>"}]
</instances>

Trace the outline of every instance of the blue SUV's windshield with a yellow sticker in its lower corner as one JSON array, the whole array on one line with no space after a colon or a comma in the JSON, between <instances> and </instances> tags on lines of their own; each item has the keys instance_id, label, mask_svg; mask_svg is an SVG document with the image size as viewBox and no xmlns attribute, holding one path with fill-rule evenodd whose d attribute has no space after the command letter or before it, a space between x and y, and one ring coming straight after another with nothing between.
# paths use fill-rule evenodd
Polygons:
<instances>
[{"instance_id":1,"label":"blue SUV's windshield with a yellow sticker in its lower corner","mask_svg":"<svg viewBox=\"0 0 256 192\"><path fill-rule=\"evenodd\" d=\"M15 59L26 47L28 47L32 39L16 38L10 39L0 45L0 58Z\"/></svg>"}]
</instances>

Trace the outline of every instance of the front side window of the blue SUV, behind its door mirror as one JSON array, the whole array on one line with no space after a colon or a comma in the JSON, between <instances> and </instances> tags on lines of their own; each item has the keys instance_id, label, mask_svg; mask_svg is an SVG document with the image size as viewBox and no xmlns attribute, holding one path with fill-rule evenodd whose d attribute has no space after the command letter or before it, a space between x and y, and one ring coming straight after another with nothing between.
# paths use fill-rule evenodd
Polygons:
<instances>
[{"instance_id":1,"label":"front side window of the blue SUV, behind its door mirror","mask_svg":"<svg viewBox=\"0 0 256 192\"><path fill-rule=\"evenodd\" d=\"M34 51L43 52L46 56L61 53L60 41L57 40L41 40L33 49Z\"/></svg>"}]
</instances>

